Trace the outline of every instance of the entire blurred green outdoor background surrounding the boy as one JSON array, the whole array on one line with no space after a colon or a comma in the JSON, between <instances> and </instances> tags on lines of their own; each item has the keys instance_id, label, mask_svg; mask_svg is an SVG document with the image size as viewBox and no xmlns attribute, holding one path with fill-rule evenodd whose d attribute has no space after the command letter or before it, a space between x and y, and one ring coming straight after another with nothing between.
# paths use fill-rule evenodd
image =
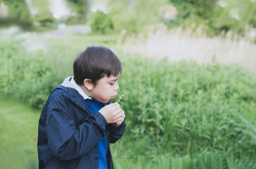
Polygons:
<instances>
[{"instance_id":1,"label":"entire blurred green outdoor background surrounding the boy","mask_svg":"<svg viewBox=\"0 0 256 169\"><path fill-rule=\"evenodd\" d=\"M90 45L123 65L116 169L256 169L256 0L0 0L0 169L38 168L41 110Z\"/></svg>"}]
</instances>

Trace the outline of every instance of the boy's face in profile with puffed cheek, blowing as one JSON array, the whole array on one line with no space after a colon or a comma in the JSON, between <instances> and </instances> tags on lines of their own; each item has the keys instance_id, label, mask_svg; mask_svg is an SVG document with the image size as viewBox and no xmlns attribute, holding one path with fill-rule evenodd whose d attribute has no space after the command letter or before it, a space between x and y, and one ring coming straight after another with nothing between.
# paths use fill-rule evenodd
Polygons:
<instances>
[{"instance_id":1,"label":"boy's face in profile with puffed cheek, blowing","mask_svg":"<svg viewBox=\"0 0 256 169\"><path fill-rule=\"evenodd\" d=\"M93 86L93 89L90 91L94 99L98 100L101 103L107 103L110 99L113 99L117 95L118 86L118 77L103 77Z\"/></svg>"}]
</instances>

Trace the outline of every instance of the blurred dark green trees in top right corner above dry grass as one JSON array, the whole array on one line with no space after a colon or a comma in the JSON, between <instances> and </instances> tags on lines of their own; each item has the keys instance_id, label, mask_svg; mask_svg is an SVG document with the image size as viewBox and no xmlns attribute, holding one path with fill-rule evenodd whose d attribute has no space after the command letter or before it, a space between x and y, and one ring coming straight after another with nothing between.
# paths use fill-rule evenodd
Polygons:
<instances>
[{"instance_id":1,"label":"blurred dark green trees in top right corner above dry grass","mask_svg":"<svg viewBox=\"0 0 256 169\"><path fill-rule=\"evenodd\" d=\"M232 30L237 34L244 35L246 25L254 26L256 4L244 1L241 5L239 0L216 1L216 0L169 0L179 12L179 17L169 26L190 27L192 24L208 26L207 33L211 35L220 34L222 30ZM220 3L225 3L221 7ZM224 4L223 4L224 5ZM241 12L247 11L247 12Z\"/></svg>"}]
</instances>

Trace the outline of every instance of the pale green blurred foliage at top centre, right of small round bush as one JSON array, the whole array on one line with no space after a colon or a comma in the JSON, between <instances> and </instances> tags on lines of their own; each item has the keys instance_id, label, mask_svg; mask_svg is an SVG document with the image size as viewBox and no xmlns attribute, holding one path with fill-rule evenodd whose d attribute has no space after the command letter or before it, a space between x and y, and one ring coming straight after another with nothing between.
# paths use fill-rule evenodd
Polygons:
<instances>
[{"instance_id":1,"label":"pale green blurred foliage at top centre, right of small round bush","mask_svg":"<svg viewBox=\"0 0 256 169\"><path fill-rule=\"evenodd\" d=\"M108 9L116 32L126 29L128 34L138 33L145 26L160 22L159 7L167 0L109 0Z\"/></svg>"}]
</instances>

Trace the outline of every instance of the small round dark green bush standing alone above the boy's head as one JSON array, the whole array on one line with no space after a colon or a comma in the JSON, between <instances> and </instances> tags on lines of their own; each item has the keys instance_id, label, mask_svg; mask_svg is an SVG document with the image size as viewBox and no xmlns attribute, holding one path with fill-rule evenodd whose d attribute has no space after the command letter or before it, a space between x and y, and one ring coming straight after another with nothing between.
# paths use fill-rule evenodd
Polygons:
<instances>
[{"instance_id":1,"label":"small round dark green bush standing alone above the boy's head","mask_svg":"<svg viewBox=\"0 0 256 169\"><path fill-rule=\"evenodd\" d=\"M90 26L92 32L105 34L113 30L113 23L108 14L97 10L91 14Z\"/></svg>"}]
</instances>

